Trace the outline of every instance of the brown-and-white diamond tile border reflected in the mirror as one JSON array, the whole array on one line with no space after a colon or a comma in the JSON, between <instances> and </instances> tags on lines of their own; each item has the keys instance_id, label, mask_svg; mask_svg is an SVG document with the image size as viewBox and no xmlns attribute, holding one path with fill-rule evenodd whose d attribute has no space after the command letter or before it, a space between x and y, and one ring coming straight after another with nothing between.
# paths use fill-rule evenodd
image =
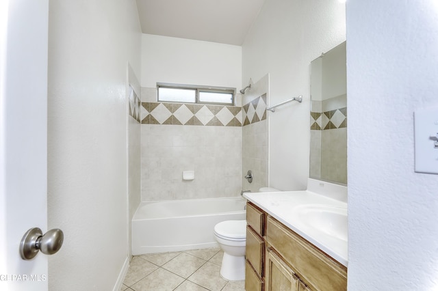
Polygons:
<instances>
[{"instance_id":1,"label":"brown-and-white diamond tile border reflected in the mirror","mask_svg":"<svg viewBox=\"0 0 438 291\"><path fill-rule=\"evenodd\" d=\"M339 124L336 126L335 124ZM310 113L311 130L328 130L347 127L347 107L325 112Z\"/></svg>"}]
</instances>

